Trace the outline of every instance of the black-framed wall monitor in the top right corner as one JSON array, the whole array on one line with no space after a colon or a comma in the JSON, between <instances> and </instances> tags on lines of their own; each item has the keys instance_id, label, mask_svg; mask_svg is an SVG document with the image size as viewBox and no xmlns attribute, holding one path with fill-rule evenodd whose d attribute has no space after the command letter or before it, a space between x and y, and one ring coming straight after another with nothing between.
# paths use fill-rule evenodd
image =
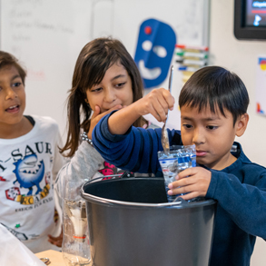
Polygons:
<instances>
[{"instance_id":1,"label":"black-framed wall monitor in the top right corner","mask_svg":"<svg viewBox=\"0 0 266 266\"><path fill-rule=\"evenodd\" d=\"M266 0L234 0L234 35L239 40L266 40Z\"/></svg>"}]
</instances>

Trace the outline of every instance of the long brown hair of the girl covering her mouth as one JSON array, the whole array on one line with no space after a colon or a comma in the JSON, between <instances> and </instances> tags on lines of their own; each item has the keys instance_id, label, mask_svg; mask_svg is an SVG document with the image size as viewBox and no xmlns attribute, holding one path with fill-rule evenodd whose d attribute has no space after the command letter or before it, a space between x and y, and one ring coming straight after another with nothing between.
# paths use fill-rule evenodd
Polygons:
<instances>
[{"instance_id":1,"label":"long brown hair of the girl covering her mouth","mask_svg":"<svg viewBox=\"0 0 266 266\"><path fill-rule=\"evenodd\" d=\"M143 80L132 56L125 49L123 44L113 38L97 38L84 45L79 54L72 80L72 88L68 96L67 116L68 116L68 133L66 143L60 150L64 153L70 150L65 156L73 156L76 151L79 139L80 128L85 132L90 128L91 107L85 102L86 91L95 84L100 84L106 71L116 62L120 62L131 77L133 89L133 102L143 97ZM81 121L81 117L83 121ZM141 117L134 126L141 126L147 123Z\"/></svg>"}]
</instances>

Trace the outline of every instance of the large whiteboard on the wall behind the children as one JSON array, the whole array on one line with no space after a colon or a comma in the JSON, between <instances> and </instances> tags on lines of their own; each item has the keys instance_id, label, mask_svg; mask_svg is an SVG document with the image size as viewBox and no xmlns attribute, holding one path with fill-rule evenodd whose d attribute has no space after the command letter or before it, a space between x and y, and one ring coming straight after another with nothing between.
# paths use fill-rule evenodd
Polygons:
<instances>
[{"instance_id":1,"label":"large whiteboard on the wall behind the children","mask_svg":"<svg viewBox=\"0 0 266 266\"><path fill-rule=\"evenodd\" d=\"M156 18L172 26L179 44L209 40L209 0L1 0L0 12L1 50L27 70L25 113L53 117L61 133L76 58L95 37L112 35L134 56L139 26ZM179 81L174 74L176 101Z\"/></svg>"}]
</instances>

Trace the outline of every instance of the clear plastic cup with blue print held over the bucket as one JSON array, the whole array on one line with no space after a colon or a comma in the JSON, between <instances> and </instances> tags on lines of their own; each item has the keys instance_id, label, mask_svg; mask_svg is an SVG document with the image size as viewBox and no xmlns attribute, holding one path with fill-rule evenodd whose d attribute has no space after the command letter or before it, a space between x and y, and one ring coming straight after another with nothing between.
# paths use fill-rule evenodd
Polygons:
<instances>
[{"instance_id":1,"label":"clear plastic cup with blue print held over the bucket","mask_svg":"<svg viewBox=\"0 0 266 266\"><path fill-rule=\"evenodd\" d=\"M168 195L168 185L175 181L175 176L187 168L196 166L195 145L171 146L167 155L163 151L158 152L158 160L163 171L165 192L168 202L173 202L178 195Z\"/></svg>"}]
</instances>

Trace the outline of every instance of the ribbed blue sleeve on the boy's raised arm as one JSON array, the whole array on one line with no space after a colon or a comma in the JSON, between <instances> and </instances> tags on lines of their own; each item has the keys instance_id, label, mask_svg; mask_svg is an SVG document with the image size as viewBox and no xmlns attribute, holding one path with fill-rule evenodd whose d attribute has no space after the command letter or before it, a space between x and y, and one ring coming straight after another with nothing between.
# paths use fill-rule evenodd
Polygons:
<instances>
[{"instance_id":1,"label":"ribbed blue sleeve on the boy's raised arm","mask_svg":"<svg viewBox=\"0 0 266 266\"><path fill-rule=\"evenodd\" d=\"M162 129L143 129L130 126L124 134L112 134L109 131L108 120L114 114L107 114L95 126L93 132L94 148L106 162L123 170L145 173L160 171L157 153L163 150ZM172 143L173 136L180 132L168 130L168 133L169 141Z\"/></svg>"}]
</instances>

